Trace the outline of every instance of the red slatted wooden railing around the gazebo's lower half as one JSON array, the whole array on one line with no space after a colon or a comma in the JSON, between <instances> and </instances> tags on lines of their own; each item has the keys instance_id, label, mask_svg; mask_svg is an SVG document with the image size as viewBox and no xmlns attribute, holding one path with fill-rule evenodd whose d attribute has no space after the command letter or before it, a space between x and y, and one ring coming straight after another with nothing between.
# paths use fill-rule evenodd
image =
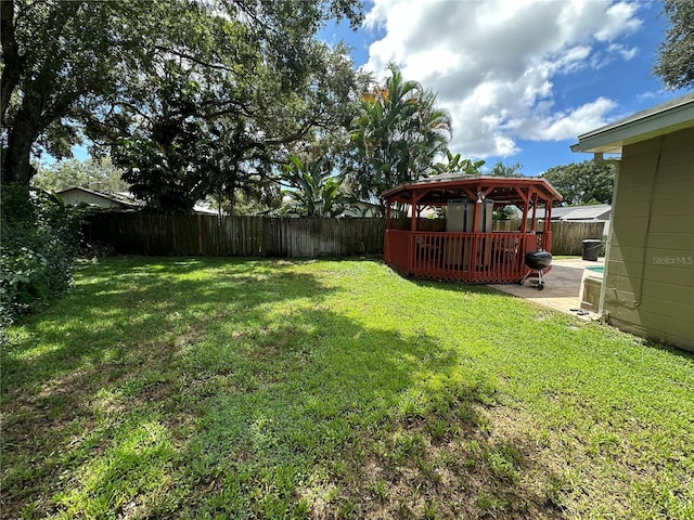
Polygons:
<instances>
[{"instance_id":1,"label":"red slatted wooden railing around the gazebo's lower half","mask_svg":"<svg viewBox=\"0 0 694 520\"><path fill-rule=\"evenodd\" d=\"M534 233L388 230L385 260L397 271L422 278L509 284L523 277L524 253L536 247Z\"/></svg>"}]
</instances>

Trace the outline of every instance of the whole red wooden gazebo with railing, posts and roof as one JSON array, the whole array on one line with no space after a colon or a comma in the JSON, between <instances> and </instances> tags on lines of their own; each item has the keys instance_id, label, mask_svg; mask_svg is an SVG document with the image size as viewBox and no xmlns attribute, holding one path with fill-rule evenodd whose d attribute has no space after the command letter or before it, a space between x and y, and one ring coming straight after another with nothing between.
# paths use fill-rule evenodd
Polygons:
<instances>
[{"instance_id":1,"label":"whole red wooden gazebo with railing, posts and roof","mask_svg":"<svg viewBox=\"0 0 694 520\"><path fill-rule=\"evenodd\" d=\"M381 198L386 205L385 261L396 271L421 278L507 284L527 272L525 252L551 251L552 203L562 195L540 178L439 176L396 187ZM522 211L518 229L493 231L492 211L505 206ZM432 226L420 217L436 207L446 208L446 221L437 219L438 225ZM402 229L402 219L393 218L395 210L410 216L409 226ZM420 229L425 226L429 231Z\"/></svg>"}]
</instances>

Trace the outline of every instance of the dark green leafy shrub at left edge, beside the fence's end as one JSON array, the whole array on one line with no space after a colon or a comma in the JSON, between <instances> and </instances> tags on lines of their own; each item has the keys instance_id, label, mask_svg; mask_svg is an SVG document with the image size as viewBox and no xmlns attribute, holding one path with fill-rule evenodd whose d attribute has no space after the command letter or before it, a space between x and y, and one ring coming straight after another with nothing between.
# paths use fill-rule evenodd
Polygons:
<instances>
[{"instance_id":1,"label":"dark green leafy shrub at left edge, beside the fence's end","mask_svg":"<svg viewBox=\"0 0 694 520\"><path fill-rule=\"evenodd\" d=\"M2 186L0 327L62 296L73 281L79 218L55 196Z\"/></svg>"}]
</instances>

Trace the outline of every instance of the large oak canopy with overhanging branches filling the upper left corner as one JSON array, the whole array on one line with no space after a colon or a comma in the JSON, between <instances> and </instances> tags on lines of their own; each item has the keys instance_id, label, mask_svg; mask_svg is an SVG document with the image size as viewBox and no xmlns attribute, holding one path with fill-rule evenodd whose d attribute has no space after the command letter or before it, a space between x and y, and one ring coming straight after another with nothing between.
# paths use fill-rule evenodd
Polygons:
<instances>
[{"instance_id":1,"label":"large oak canopy with overhanging branches filling the upper left corner","mask_svg":"<svg viewBox=\"0 0 694 520\"><path fill-rule=\"evenodd\" d=\"M103 138L118 118L123 129L133 114L146 117L172 60L228 91L222 110L243 115L265 103L270 118L285 101L272 89L310 87L316 31L331 17L359 23L360 8L359 0L2 1L2 183L28 185L40 150L69 156L83 131ZM264 75L272 88L254 99Z\"/></svg>"}]
</instances>

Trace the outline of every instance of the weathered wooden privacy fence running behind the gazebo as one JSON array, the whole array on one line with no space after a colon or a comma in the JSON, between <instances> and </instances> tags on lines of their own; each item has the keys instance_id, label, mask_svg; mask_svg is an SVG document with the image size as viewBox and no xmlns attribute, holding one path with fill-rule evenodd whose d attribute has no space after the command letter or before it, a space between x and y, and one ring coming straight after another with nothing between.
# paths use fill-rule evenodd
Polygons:
<instances>
[{"instance_id":1,"label":"weathered wooden privacy fence running behind the gazebo","mask_svg":"<svg viewBox=\"0 0 694 520\"><path fill-rule=\"evenodd\" d=\"M427 231L445 231L441 219L422 219ZM494 221L494 231L517 229ZM403 220L409 227L409 220ZM384 219L281 219L208 214L104 212L89 216L85 237L116 252L149 256L317 258L382 255ZM603 222L552 223L552 252L581 255L582 240L602 238Z\"/></svg>"}]
</instances>

